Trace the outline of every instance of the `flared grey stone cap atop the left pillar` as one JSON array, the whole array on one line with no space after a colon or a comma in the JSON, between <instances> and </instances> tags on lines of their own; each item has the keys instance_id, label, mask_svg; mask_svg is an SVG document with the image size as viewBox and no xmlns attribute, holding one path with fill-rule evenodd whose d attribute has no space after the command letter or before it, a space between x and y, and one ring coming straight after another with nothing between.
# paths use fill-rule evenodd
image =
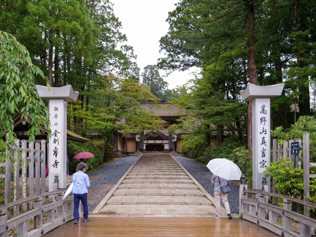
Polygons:
<instances>
[{"instance_id":1,"label":"flared grey stone cap atop the left pillar","mask_svg":"<svg viewBox=\"0 0 316 237\"><path fill-rule=\"evenodd\" d=\"M35 85L40 97L49 101L50 99L64 99L67 102L76 102L79 92L74 91L71 85L63 87L51 87Z\"/></svg>"}]
</instances>

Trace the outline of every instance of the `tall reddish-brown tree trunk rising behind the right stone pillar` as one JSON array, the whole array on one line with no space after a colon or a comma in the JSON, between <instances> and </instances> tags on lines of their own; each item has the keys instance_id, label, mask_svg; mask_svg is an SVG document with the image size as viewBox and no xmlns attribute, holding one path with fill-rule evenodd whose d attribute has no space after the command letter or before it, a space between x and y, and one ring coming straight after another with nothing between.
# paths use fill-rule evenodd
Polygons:
<instances>
[{"instance_id":1,"label":"tall reddish-brown tree trunk rising behind the right stone pillar","mask_svg":"<svg viewBox=\"0 0 316 237\"><path fill-rule=\"evenodd\" d=\"M248 20L248 71L249 71L249 83L258 85L258 72L255 60L255 37L254 37L254 2L246 2L247 6L247 20ZM252 102L249 101L248 106L248 150L252 150Z\"/></svg>"}]
</instances>

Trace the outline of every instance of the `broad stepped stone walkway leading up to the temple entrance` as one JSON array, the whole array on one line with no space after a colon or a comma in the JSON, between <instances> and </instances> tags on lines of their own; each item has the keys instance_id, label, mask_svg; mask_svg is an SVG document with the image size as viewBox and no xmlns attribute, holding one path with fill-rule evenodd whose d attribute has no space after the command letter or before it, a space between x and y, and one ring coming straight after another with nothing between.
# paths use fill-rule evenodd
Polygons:
<instances>
[{"instance_id":1,"label":"broad stepped stone walkway leading up to the temple entrance","mask_svg":"<svg viewBox=\"0 0 316 237\"><path fill-rule=\"evenodd\" d=\"M143 154L93 216L213 217L214 198L170 154ZM223 215L226 216L226 215Z\"/></svg>"}]
</instances>

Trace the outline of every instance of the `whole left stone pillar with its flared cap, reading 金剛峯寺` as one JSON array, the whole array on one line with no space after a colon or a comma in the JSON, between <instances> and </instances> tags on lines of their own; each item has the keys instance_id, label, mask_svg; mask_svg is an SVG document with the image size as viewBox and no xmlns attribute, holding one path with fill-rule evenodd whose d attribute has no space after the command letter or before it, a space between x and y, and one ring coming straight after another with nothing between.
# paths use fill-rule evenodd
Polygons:
<instances>
[{"instance_id":1,"label":"whole left stone pillar with its flared cap, reading \u91d1\u525b\u5cef\u5bfa","mask_svg":"<svg viewBox=\"0 0 316 237\"><path fill-rule=\"evenodd\" d=\"M67 154L67 102L76 102L79 92L71 85L51 87L36 85L42 99L48 101L51 137L48 139L49 191L54 191L55 175L59 177L59 188L66 188Z\"/></svg>"}]
</instances>

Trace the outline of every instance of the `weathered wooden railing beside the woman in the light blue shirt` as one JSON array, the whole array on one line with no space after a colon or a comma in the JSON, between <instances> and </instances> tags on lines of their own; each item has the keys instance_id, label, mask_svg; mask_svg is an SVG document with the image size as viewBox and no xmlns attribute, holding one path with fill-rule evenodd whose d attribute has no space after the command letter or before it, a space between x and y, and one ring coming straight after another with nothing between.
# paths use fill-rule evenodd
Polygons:
<instances>
[{"instance_id":1,"label":"weathered wooden railing beside the woman in the light blue shirt","mask_svg":"<svg viewBox=\"0 0 316 237\"><path fill-rule=\"evenodd\" d=\"M72 220L74 202L72 198L63 200L64 191L56 190L35 194L0 206L0 237L8 237L8 230L15 226L17 226L16 235L19 237L42 236L64 222ZM52 196L52 203L43 204L46 196ZM31 202L34 203L32 209L11 217L12 208L20 209L20 206ZM43 222L45 213L46 222ZM33 218L34 227L32 230L28 230L27 221L31 218Z\"/></svg>"}]
</instances>

